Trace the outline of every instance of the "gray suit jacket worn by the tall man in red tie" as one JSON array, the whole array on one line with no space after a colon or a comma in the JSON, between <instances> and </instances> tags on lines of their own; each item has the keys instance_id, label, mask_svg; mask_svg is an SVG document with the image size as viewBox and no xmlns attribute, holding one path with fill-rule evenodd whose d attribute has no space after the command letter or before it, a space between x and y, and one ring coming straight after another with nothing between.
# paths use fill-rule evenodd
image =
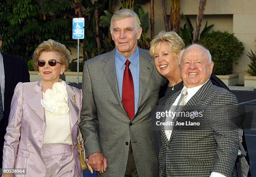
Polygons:
<instances>
[{"instance_id":1,"label":"gray suit jacket worn by the tall man in red tie","mask_svg":"<svg viewBox=\"0 0 256 177\"><path fill-rule=\"evenodd\" d=\"M157 104L164 77L156 71L147 50L139 48L139 101L132 120L126 114L118 91L115 73L115 50L99 55L84 64L80 130L86 156L102 152L108 160L104 177L123 177L131 142L139 177L156 177L154 132L151 107Z\"/></svg>"}]
</instances>

